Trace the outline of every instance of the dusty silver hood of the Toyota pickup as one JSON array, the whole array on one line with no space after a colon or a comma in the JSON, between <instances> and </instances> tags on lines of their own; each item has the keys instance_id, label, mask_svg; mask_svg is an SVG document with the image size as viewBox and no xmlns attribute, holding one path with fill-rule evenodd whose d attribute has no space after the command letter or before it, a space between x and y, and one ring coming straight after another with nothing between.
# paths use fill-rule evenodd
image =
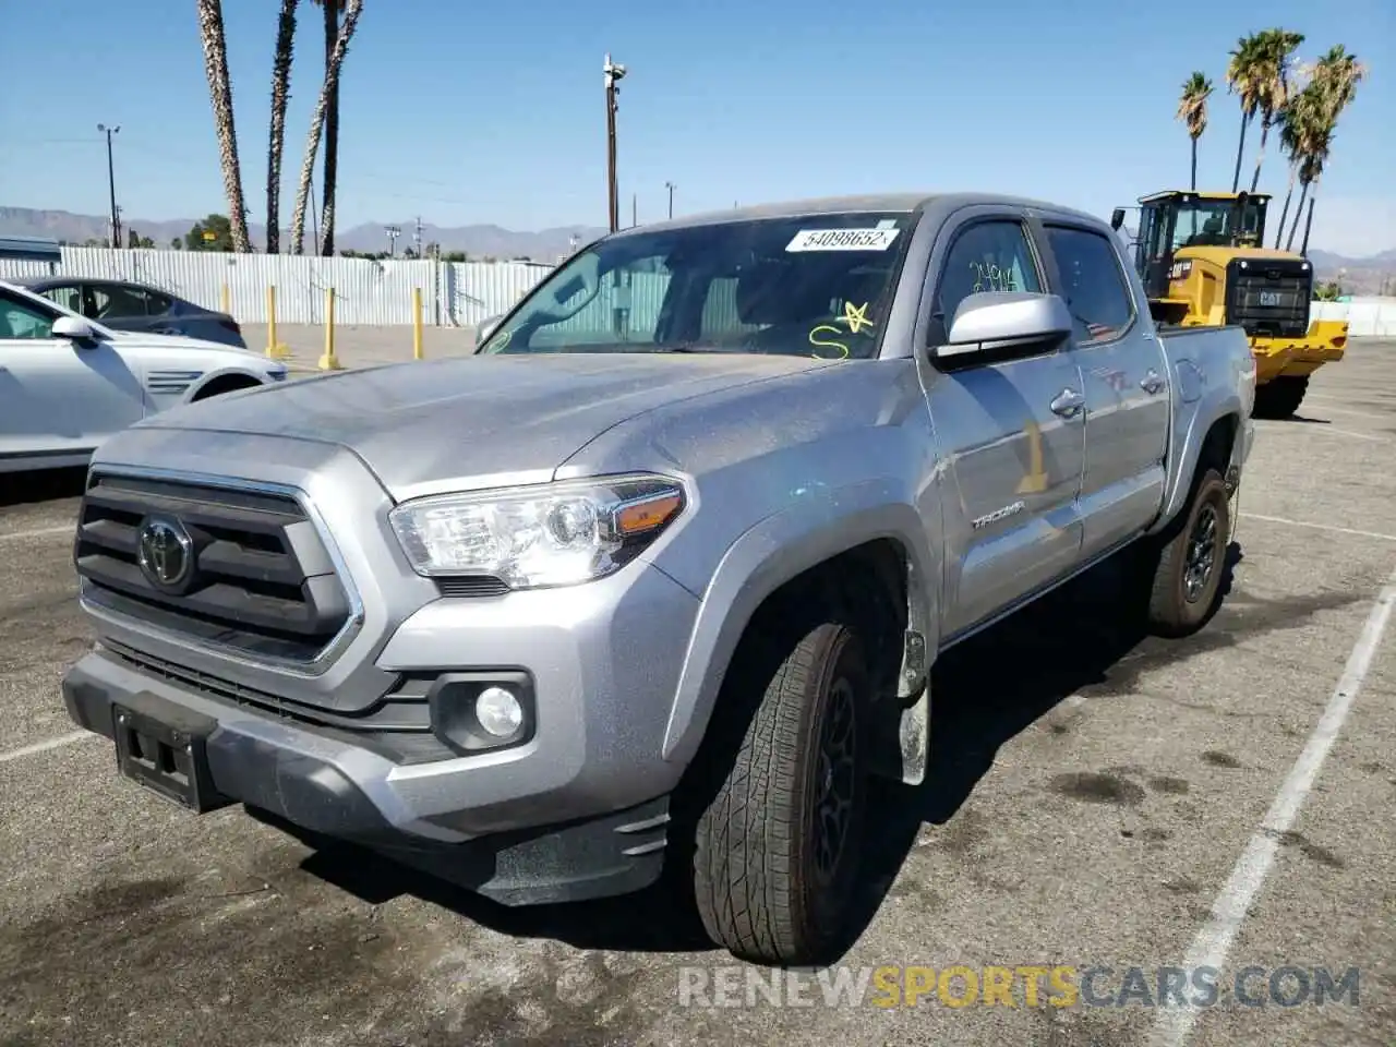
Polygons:
<instances>
[{"instance_id":1,"label":"dusty silver hood of the Toyota pickup","mask_svg":"<svg viewBox=\"0 0 1396 1047\"><path fill-rule=\"evenodd\" d=\"M339 444L403 500L547 480L591 440L637 415L828 366L727 353L468 356L214 396L138 427Z\"/></svg>"}]
</instances>

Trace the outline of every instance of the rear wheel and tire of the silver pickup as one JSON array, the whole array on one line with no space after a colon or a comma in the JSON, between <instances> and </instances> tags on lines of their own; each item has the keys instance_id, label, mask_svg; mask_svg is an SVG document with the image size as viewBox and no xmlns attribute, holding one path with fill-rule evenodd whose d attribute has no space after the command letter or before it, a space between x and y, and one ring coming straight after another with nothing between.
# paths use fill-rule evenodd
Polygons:
<instances>
[{"instance_id":1,"label":"rear wheel and tire of the silver pickup","mask_svg":"<svg viewBox=\"0 0 1396 1047\"><path fill-rule=\"evenodd\" d=\"M1213 468L1198 479L1188 508L1166 532L1149 592L1149 628L1187 637L1216 611L1231 539L1226 482Z\"/></svg>"}]
</instances>

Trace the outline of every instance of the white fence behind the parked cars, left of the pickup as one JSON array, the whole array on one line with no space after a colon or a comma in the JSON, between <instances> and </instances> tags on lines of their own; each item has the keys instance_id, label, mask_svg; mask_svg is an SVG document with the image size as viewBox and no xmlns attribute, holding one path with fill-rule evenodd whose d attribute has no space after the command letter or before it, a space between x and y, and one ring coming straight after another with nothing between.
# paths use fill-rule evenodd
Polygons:
<instances>
[{"instance_id":1,"label":"white fence behind the parked cars, left of the pickup","mask_svg":"<svg viewBox=\"0 0 1396 1047\"><path fill-rule=\"evenodd\" d=\"M276 289L276 322L320 324L327 290L336 324L410 324L412 290L422 289L423 322L469 327L503 313L551 271L532 262L377 261L293 254L64 247L56 274L128 279L207 309L226 307L239 322L267 322L267 289ZM0 279L46 276L45 262L0 258ZM226 292L225 292L226 288Z\"/></svg>"}]
</instances>

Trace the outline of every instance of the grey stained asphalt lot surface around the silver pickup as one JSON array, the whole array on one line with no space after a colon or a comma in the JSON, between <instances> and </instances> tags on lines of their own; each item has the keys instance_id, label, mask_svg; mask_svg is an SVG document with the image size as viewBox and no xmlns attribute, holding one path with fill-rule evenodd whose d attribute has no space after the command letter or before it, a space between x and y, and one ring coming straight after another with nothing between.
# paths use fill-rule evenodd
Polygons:
<instances>
[{"instance_id":1,"label":"grey stained asphalt lot surface around the silver pickup","mask_svg":"<svg viewBox=\"0 0 1396 1047\"><path fill-rule=\"evenodd\" d=\"M70 564L81 476L13 479L6 1047L1396 1043L1396 624L1382 641L1372 617L1396 578L1396 345L1356 345L1302 419L1259 423L1231 593L1205 632L1122 632L1104 572L945 659L930 782L882 797L867 928L838 972L914 965L898 974L931 986L914 1008L877 1005L895 972L861 1002L808 973L782 1005L748 1000L747 973L766 993L769 974L659 895L510 912L242 808L165 805L61 708L91 642ZM1081 991L1060 1007L1044 976L1034 1007L1019 972L1012 1007L952 1007L965 983L942 994L935 976L956 965L976 981L1068 966ZM1195 967L1222 969L1192 1026L1150 1005L1184 965L1188 995ZM1248 966L1255 1005L1234 991ZM1300 972L1272 994L1284 966ZM1354 967L1356 993L1315 1004Z\"/></svg>"}]
</instances>

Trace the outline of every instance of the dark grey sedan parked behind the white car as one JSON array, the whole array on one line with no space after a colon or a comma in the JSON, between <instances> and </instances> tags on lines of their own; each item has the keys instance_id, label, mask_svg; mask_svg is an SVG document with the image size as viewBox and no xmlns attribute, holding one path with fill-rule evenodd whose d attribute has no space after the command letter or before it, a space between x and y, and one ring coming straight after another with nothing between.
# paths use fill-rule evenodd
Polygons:
<instances>
[{"instance_id":1,"label":"dark grey sedan parked behind the white car","mask_svg":"<svg viewBox=\"0 0 1396 1047\"><path fill-rule=\"evenodd\" d=\"M228 313L204 309L147 283L88 276L35 276L17 282L113 331L179 335L247 348L242 327Z\"/></svg>"}]
</instances>

